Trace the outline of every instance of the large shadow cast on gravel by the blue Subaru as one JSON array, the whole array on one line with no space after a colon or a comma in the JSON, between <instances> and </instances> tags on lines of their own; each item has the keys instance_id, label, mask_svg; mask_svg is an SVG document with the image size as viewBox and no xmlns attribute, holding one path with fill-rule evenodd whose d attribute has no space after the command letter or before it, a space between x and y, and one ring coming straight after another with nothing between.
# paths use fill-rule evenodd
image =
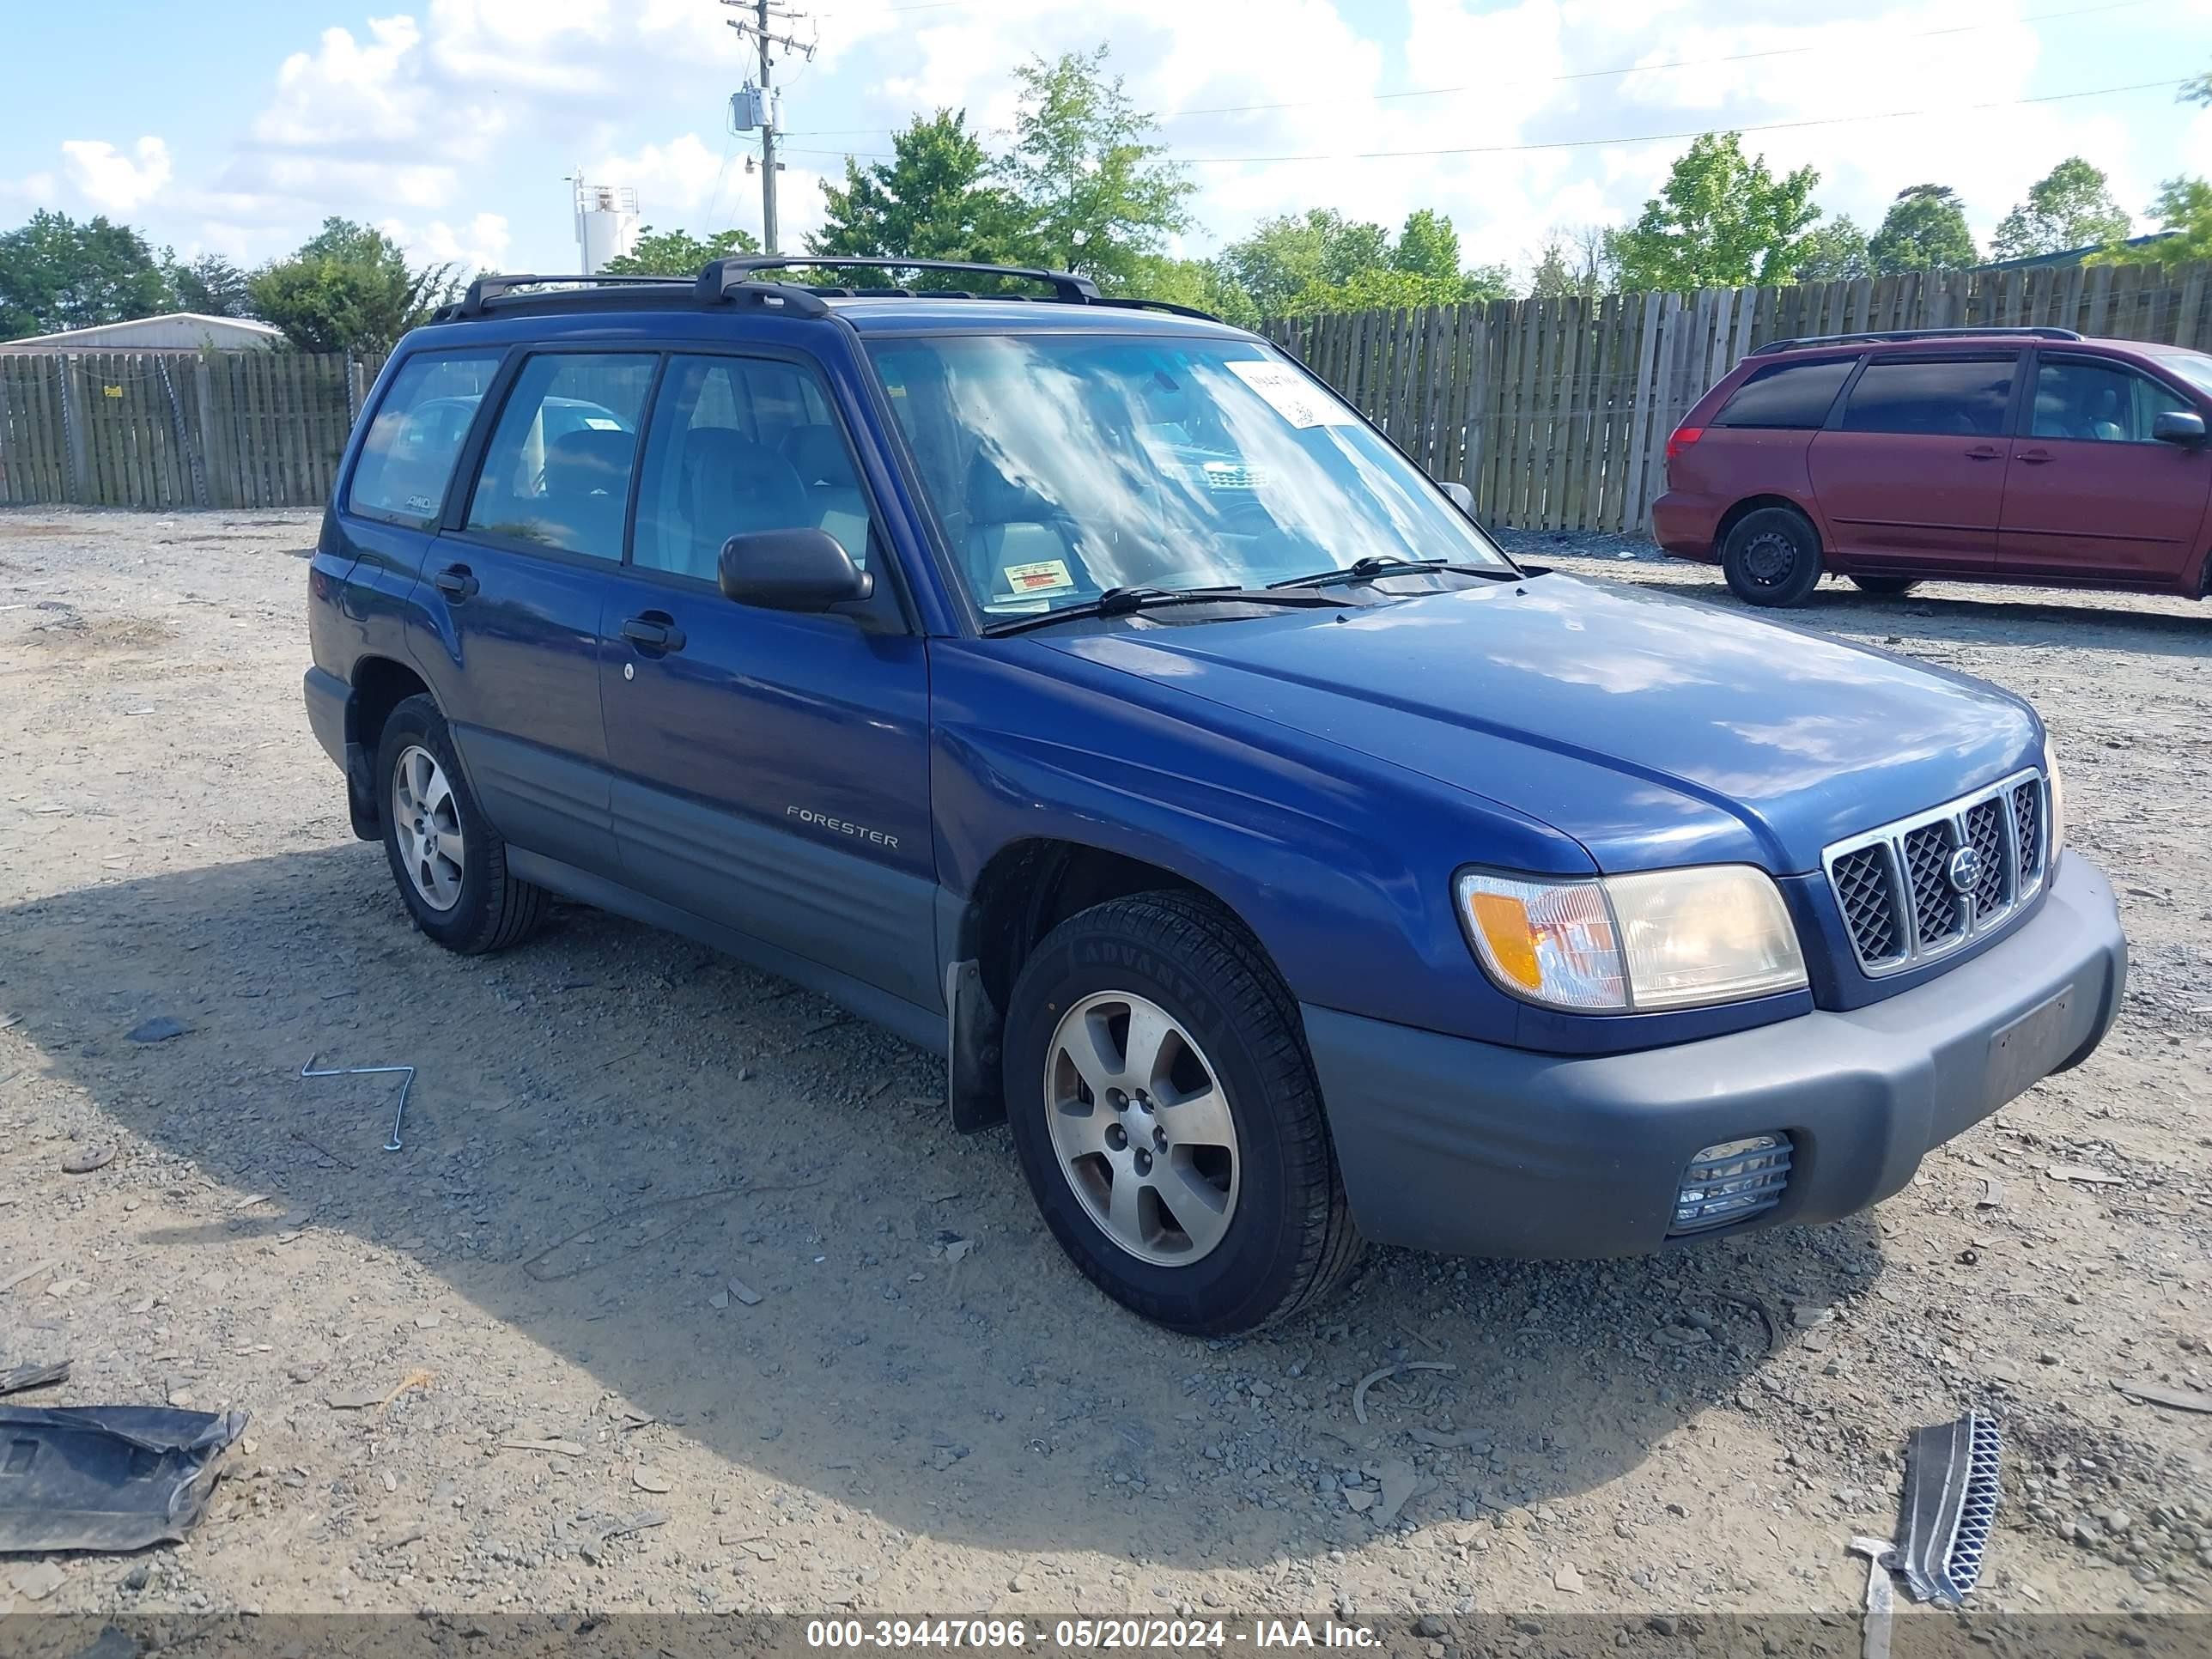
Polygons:
<instances>
[{"instance_id":1,"label":"large shadow cast on gravel by the blue Subaru","mask_svg":"<svg viewBox=\"0 0 2212 1659\"><path fill-rule=\"evenodd\" d=\"M4 909L0 1002L126 1130L82 1181L135 1181L146 1208L102 1243L228 1248L263 1307L305 1310L290 1345L219 1360L201 1402L221 1387L327 1425L332 1391L420 1367L422 1400L376 1431L438 1436L460 1482L511 1462L473 1453L518 1425L582 1442L606 1405L526 1345L487 1358L484 1316L622 1411L916 1537L1175 1566L1365 1544L1396 1486L1358 1502L1347 1480L1409 1478L1398 1524L1460 1524L1582 1498L1686 1431L1728 1442L1701 1460L1712 1493L1681 1493L1694 1517L1745 1480L1741 1420L1686 1429L1723 1402L1774 1447L1856 1433L1812 1396L1820 1369L1849 1376L1849 1301L1882 1270L1865 1219L1588 1265L1376 1252L1343 1301L1281 1329L1179 1338L1066 1265L1004 1133L949 1130L933 1060L595 911L562 909L507 956L447 956L407 927L374 847ZM135 1042L150 1015L186 1031ZM416 1064L405 1148L380 1150L394 1079L301 1079L310 1057ZM58 1159L31 1175L64 1181ZM343 1248L319 1252L332 1234ZM181 1296L168 1318L212 1318L195 1310ZM252 1354L243 1314L223 1318L210 1352ZM1356 1385L1400 1365L1360 1425ZM307 1473L345 1506L347 1471ZM712 1531L710 1484L657 1502Z\"/></svg>"}]
</instances>

